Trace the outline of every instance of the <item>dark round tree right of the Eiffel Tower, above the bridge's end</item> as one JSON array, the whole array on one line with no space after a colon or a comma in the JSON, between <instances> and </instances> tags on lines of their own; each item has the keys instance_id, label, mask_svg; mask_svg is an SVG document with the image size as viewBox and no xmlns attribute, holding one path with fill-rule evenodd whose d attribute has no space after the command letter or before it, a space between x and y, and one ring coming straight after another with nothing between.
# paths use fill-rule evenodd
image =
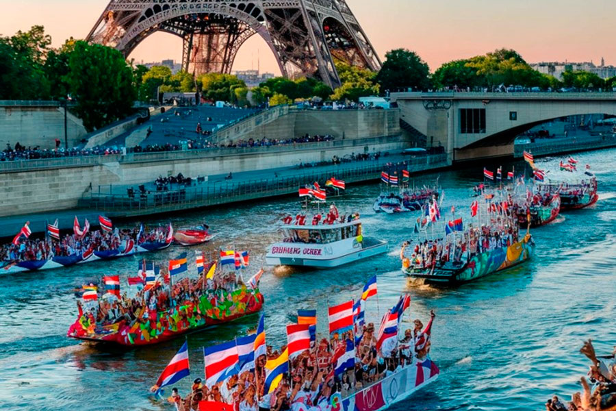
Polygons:
<instances>
[{"instance_id":1,"label":"dark round tree right of the Eiffel Tower, above the bridge's end","mask_svg":"<svg viewBox=\"0 0 616 411\"><path fill-rule=\"evenodd\" d=\"M376 82L381 85L381 90L411 87L426 90L430 85L428 73L428 64L417 53L395 49L385 54L385 62L376 76Z\"/></svg>"}]
</instances>

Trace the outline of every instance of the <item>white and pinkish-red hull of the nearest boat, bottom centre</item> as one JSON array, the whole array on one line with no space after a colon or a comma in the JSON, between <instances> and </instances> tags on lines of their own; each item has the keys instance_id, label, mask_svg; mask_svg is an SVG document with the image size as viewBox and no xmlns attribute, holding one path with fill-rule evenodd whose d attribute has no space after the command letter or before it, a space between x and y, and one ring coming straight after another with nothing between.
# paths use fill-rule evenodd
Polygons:
<instances>
[{"instance_id":1,"label":"white and pinkish-red hull of the nearest boat, bottom centre","mask_svg":"<svg viewBox=\"0 0 616 411\"><path fill-rule=\"evenodd\" d=\"M439 369L429 359L414 362L349 397L341 399L344 411L381 411L407 399L439 377Z\"/></svg>"}]
</instances>

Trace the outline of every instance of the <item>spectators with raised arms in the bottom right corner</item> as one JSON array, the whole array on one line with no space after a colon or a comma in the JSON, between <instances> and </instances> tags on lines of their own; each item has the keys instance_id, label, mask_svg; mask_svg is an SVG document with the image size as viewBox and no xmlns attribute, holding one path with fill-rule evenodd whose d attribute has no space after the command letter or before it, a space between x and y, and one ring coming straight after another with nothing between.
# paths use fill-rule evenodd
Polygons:
<instances>
[{"instance_id":1,"label":"spectators with raised arms in the bottom right corner","mask_svg":"<svg viewBox=\"0 0 616 411\"><path fill-rule=\"evenodd\" d=\"M611 356L597 356L592 341L587 340L580 352L591 360L589 380L580 378L582 392L574 393L567 406L556 395L548 399L546 411L616 410L616 346Z\"/></svg>"}]
</instances>

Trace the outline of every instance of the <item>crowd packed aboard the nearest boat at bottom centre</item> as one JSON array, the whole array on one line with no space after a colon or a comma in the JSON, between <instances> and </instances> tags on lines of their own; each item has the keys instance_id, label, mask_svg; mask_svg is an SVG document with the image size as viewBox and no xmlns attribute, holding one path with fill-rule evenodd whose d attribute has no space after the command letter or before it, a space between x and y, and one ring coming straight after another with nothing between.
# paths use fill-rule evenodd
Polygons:
<instances>
[{"instance_id":1,"label":"crowd packed aboard the nearest boat at bottom centre","mask_svg":"<svg viewBox=\"0 0 616 411\"><path fill-rule=\"evenodd\" d=\"M175 405L177 411L199 410L201 401L226 403L239 411L329 410L333 395L348 397L402 371L415 361L425 360L430 351L434 316L431 312L426 327L416 319L414 327L406 329L403 338L391 338L387 347L383 344L378 349L374 323L361 325L356 332L334 334L329 340L316 338L311 342L310 349L290 360L289 371L271 393L264 390L265 365L268 360L278 358L287 348L285 345L279 350L268 345L266 355L255 359L253 370L232 375L213 386L207 386L201 378L196 378L188 395L182 397L177 388L172 388L167 400ZM335 358L345 352L350 343L355 346L355 365L336 375ZM157 388L154 386L152 390Z\"/></svg>"}]
</instances>

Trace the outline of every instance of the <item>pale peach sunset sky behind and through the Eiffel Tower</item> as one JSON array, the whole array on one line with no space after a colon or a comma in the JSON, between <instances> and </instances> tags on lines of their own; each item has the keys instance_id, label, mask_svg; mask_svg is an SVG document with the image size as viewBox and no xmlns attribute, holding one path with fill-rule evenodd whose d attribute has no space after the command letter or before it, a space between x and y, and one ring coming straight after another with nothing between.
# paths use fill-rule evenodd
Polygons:
<instances>
[{"instance_id":1,"label":"pale peach sunset sky behind and through the Eiffel Tower","mask_svg":"<svg viewBox=\"0 0 616 411\"><path fill-rule=\"evenodd\" d=\"M53 45L84 38L107 0L0 0L0 34L44 25ZM443 62L500 47L528 62L616 64L616 0L347 0L381 58L390 49L416 51L431 71ZM233 69L279 73L259 36L248 40ZM136 62L181 60L181 40L154 34L131 54Z\"/></svg>"}]
</instances>

